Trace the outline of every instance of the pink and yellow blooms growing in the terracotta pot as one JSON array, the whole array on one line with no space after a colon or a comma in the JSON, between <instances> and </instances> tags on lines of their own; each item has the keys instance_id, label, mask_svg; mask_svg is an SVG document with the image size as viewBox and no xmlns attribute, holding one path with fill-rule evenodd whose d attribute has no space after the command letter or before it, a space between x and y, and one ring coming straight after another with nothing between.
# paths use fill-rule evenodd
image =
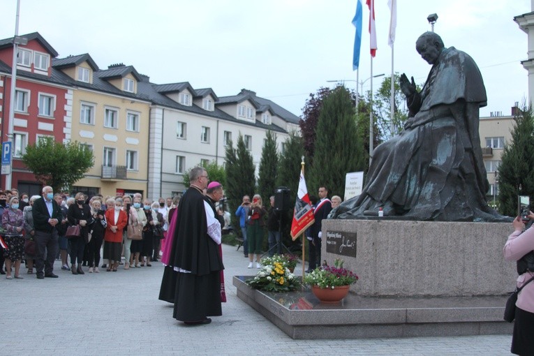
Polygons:
<instances>
[{"instance_id":1,"label":"pink and yellow blooms growing in the terracotta pot","mask_svg":"<svg viewBox=\"0 0 534 356\"><path fill-rule=\"evenodd\" d=\"M311 273L306 274L304 283L307 285L317 285L319 288L334 289L340 285L350 285L356 283L358 276L346 268L343 268L343 260L336 258L334 267L317 267Z\"/></svg>"}]
</instances>

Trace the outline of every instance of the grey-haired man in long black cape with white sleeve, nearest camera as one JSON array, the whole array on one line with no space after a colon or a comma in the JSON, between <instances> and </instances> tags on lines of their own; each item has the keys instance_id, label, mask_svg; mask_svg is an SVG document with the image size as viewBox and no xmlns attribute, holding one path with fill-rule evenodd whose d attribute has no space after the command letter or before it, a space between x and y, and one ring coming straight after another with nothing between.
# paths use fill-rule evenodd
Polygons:
<instances>
[{"instance_id":1,"label":"grey-haired man in long black cape with white sleeve, nearest camera","mask_svg":"<svg viewBox=\"0 0 534 356\"><path fill-rule=\"evenodd\" d=\"M170 265L176 274L173 317L186 325L209 324L221 316L221 279L218 253L221 224L204 200L208 177L204 168L189 173L191 186L180 200L175 217L175 240ZM172 280L172 279L171 279Z\"/></svg>"}]
</instances>

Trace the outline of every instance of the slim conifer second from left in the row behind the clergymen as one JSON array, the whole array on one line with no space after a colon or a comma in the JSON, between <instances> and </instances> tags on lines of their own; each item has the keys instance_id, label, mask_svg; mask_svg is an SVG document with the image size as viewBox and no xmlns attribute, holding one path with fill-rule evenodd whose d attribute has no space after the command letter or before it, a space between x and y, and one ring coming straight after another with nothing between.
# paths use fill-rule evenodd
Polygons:
<instances>
[{"instance_id":1,"label":"slim conifer second from left in the row behind the clergymen","mask_svg":"<svg viewBox=\"0 0 534 356\"><path fill-rule=\"evenodd\" d=\"M262 158L258 174L258 191L263 205L269 207L269 197L276 189L276 175L278 174L278 152L276 151L276 136L272 131L265 134L265 143L262 148Z\"/></svg>"}]
</instances>

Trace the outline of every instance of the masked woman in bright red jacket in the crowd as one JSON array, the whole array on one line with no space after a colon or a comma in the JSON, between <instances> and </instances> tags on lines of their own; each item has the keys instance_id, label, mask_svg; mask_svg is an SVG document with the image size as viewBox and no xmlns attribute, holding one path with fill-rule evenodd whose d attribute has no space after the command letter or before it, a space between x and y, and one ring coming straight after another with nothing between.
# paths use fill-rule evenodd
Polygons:
<instances>
[{"instance_id":1,"label":"masked woman in bright red jacket in the crowd","mask_svg":"<svg viewBox=\"0 0 534 356\"><path fill-rule=\"evenodd\" d=\"M113 272L117 272L119 262L121 261L122 250L122 230L126 226L128 216L121 209L122 200L117 198L114 200L110 198L106 201L107 205L114 204L114 209L107 209L105 211L105 220L107 221L107 227L105 228L104 235L104 258L107 258L107 272L113 269Z\"/></svg>"}]
</instances>

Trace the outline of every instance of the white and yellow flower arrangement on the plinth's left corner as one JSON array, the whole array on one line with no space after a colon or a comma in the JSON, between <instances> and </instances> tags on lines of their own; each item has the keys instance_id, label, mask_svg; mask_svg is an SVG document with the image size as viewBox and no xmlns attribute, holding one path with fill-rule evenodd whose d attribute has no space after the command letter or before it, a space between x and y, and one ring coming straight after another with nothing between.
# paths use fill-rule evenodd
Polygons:
<instances>
[{"instance_id":1,"label":"white and yellow flower arrangement on the plinth's left corner","mask_svg":"<svg viewBox=\"0 0 534 356\"><path fill-rule=\"evenodd\" d=\"M299 287L299 281L289 271L288 260L274 255L262 260L262 268L253 279L245 281L251 288L267 292L289 292Z\"/></svg>"}]
</instances>

